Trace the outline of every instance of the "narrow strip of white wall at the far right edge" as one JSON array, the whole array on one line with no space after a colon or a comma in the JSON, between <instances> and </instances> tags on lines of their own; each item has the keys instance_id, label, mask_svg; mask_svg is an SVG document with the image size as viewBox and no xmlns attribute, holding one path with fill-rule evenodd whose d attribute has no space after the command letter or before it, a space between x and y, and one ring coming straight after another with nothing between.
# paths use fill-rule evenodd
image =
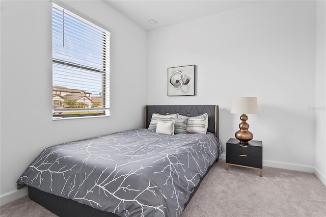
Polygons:
<instances>
[{"instance_id":1,"label":"narrow strip of white wall at the far right edge","mask_svg":"<svg viewBox=\"0 0 326 217\"><path fill-rule=\"evenodd\" d=\"M318 1L316 6L315 174L326 185L326 2Z\"/></svg>"}]
</instances>

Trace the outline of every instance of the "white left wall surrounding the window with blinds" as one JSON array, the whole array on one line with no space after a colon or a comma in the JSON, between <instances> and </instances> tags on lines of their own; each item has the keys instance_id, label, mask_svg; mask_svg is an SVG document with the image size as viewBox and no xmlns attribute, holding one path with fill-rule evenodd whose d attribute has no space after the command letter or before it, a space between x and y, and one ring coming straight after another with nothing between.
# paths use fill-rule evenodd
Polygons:
<instances>
[{"instance_id":1,"label":"white left wall surrounding the window with blinds","mask_svg":"<svg viewBox=\"0 0 326 217\"><path fill-rule=\"evenodd\" d=\"M52 121L50 1L1 1L1 204L26 195L16 181L42 149L143 127L146 32L102 1L64 3L112 32L111 117Z\"/></svg>"}]
</instances>

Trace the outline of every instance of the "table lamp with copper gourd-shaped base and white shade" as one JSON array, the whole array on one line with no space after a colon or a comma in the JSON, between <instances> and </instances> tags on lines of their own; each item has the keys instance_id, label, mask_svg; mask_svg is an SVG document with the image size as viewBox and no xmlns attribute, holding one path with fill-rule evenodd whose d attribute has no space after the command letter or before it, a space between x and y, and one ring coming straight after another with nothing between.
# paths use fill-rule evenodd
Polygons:
<instances>
[{"instance_id":1,"label":"table lamp with copper gourd-shaped base and white shade","mask_svg":"<svg viewBox=\"0 0 326 217\"><path fill-rule=\"evenodd\" d=\"M242 114L239 124L240 130L235 132L235 138L240 141L240 144L248 144L248 141L253 139L253 133L249 129L249 124L246 122L248 116L246 114L258 114L257 97L234 97L232 98L231 106L232 114Z\"/></svg>"}]
</instances>

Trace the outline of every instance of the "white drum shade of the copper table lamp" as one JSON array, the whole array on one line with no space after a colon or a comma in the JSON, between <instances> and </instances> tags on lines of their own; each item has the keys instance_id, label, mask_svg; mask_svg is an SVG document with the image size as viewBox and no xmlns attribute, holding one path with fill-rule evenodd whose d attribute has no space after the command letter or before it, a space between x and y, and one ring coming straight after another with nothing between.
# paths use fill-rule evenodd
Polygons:
<instances>
[{"instance_id":1,"label":"white drum shade of the copper table lamp","mask_svg":"<svg viewBox=\"0 0 326 217\"><path fill-rule=\"evenodd\" d=\"M234 97L231 106L232 114L258 114L257 97Z\"/></svg>"}]
</instances>

